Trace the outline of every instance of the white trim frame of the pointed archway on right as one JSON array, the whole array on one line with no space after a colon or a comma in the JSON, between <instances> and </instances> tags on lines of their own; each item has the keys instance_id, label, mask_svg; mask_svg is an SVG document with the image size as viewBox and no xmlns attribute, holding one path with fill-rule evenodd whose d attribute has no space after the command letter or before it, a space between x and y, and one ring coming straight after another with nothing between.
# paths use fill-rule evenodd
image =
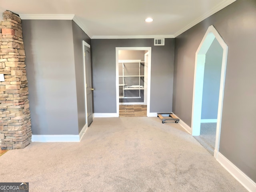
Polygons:
<instances>
[{"instance_id":1,"label":"white trim frame of the pointed archway on right","mask_svg":"<svg viewBox=\"0 0 256 192\"><path fill-rule=\"evenodd\" d=\"M196 64L194 72L194 90L193 90L193 104L192 104L192 135L200 135L200 125L201 125L201 110L202 110L202 94L203 94L203 82L204 82L204 64L206 58L206 52L210 48L214 38L218 40L220 46L223 48L222 54L222 66L220 75L220 94L218 103L218 115L217 115L217 128L216 128L216 141L214 149L214 157L217 158L220 146L220 130L221 130L221 120L222 120L222 106L223 106L223 96L224 96L224 85L226 76L226 64L228 58L228 46L214 28L210 26L202 39L198 50L196 51Z\"/></svg>"}]
</instances>

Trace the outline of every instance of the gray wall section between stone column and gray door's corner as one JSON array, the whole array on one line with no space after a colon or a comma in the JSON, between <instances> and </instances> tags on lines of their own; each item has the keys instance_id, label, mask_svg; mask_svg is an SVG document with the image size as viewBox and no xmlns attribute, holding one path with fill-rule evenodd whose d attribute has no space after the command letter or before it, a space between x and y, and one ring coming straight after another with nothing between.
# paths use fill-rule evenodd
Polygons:
<instances>
[{"instance_id":1,"label":"gray wall section between stone column and gray door's corner","mask_svg":"<svg viewBox=\"0 0 256 192\"><path fill-rule=\"evenodd\" d=\"M32 134L78 134L72 22L22 20Z\"/></svg>"}]
</instances>

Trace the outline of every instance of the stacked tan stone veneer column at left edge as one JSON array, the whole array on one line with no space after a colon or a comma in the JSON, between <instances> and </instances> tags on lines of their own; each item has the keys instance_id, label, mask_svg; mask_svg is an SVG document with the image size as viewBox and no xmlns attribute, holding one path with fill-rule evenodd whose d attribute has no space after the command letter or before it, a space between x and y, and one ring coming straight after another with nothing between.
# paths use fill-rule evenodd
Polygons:
<instances>
[{"instance_id":1,"label":"stacked tan stone veneer column at left edge","mask_svg":"<svg viewBox=\"0 0 256 192\"><path fill-rule=\"evenodd\" d=\"M0 21L0 148L20 149L31 142L28 81L20 17L10 11Z\"/></svg>"}]
</instances>

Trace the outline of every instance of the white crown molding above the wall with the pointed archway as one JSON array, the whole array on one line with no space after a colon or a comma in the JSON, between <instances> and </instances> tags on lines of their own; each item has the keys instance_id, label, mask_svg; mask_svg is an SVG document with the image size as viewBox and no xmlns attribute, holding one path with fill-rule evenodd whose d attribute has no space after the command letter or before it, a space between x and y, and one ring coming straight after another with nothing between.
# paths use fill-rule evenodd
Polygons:
<instances>
[{"instance_id":1,"label":"white crown molding above the wall with the pointed archway","mask_svg":"<svg viewBox=\"0 0 256 192\"><path fill-rule=\"evenodd\" d=\"M192 23L188 24L186 27L182 28L181 30L179 30L178 32L176 32L174 34L174 38L176 38L177 36L179 36L180 34L182 34L183 32L185 32L186 30L192 28L193 26L195 26L196 24L200 23L202 20L205 20L206 18L210 17L211 15L213 15L214 13L222 10L223 8L225 8L226 6L232 4L233 2L235 2L236 0L223 0L220 4L218 4L217 6L215 6L214 8L212 8L212 10L210 10L209 12L207 12L206 14L200 16L199 18L197 18L196 20L194 20Z\"/></svg>"}]
</instances>

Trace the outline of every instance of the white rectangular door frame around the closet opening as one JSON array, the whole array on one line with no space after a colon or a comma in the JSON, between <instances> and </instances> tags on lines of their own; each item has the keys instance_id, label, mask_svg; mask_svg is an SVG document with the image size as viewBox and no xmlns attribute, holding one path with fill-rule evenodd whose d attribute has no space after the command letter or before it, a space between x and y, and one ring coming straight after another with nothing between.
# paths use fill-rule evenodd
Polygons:
<instances>
[{"instance_id":1,"label":"white rectangular door frame around the closet opening","mask_svg":"<svg viewBox=\"0 0 256 192\"><path fill-rule=\"evenodd\" d=\"M148 102L147 102L147 116L150 116L150 82L151 82L151 47L116 47L116 114L119 117L119 64L118 51L120 50L135 50L148 51Z\"/></svg>"}]
</instances>

